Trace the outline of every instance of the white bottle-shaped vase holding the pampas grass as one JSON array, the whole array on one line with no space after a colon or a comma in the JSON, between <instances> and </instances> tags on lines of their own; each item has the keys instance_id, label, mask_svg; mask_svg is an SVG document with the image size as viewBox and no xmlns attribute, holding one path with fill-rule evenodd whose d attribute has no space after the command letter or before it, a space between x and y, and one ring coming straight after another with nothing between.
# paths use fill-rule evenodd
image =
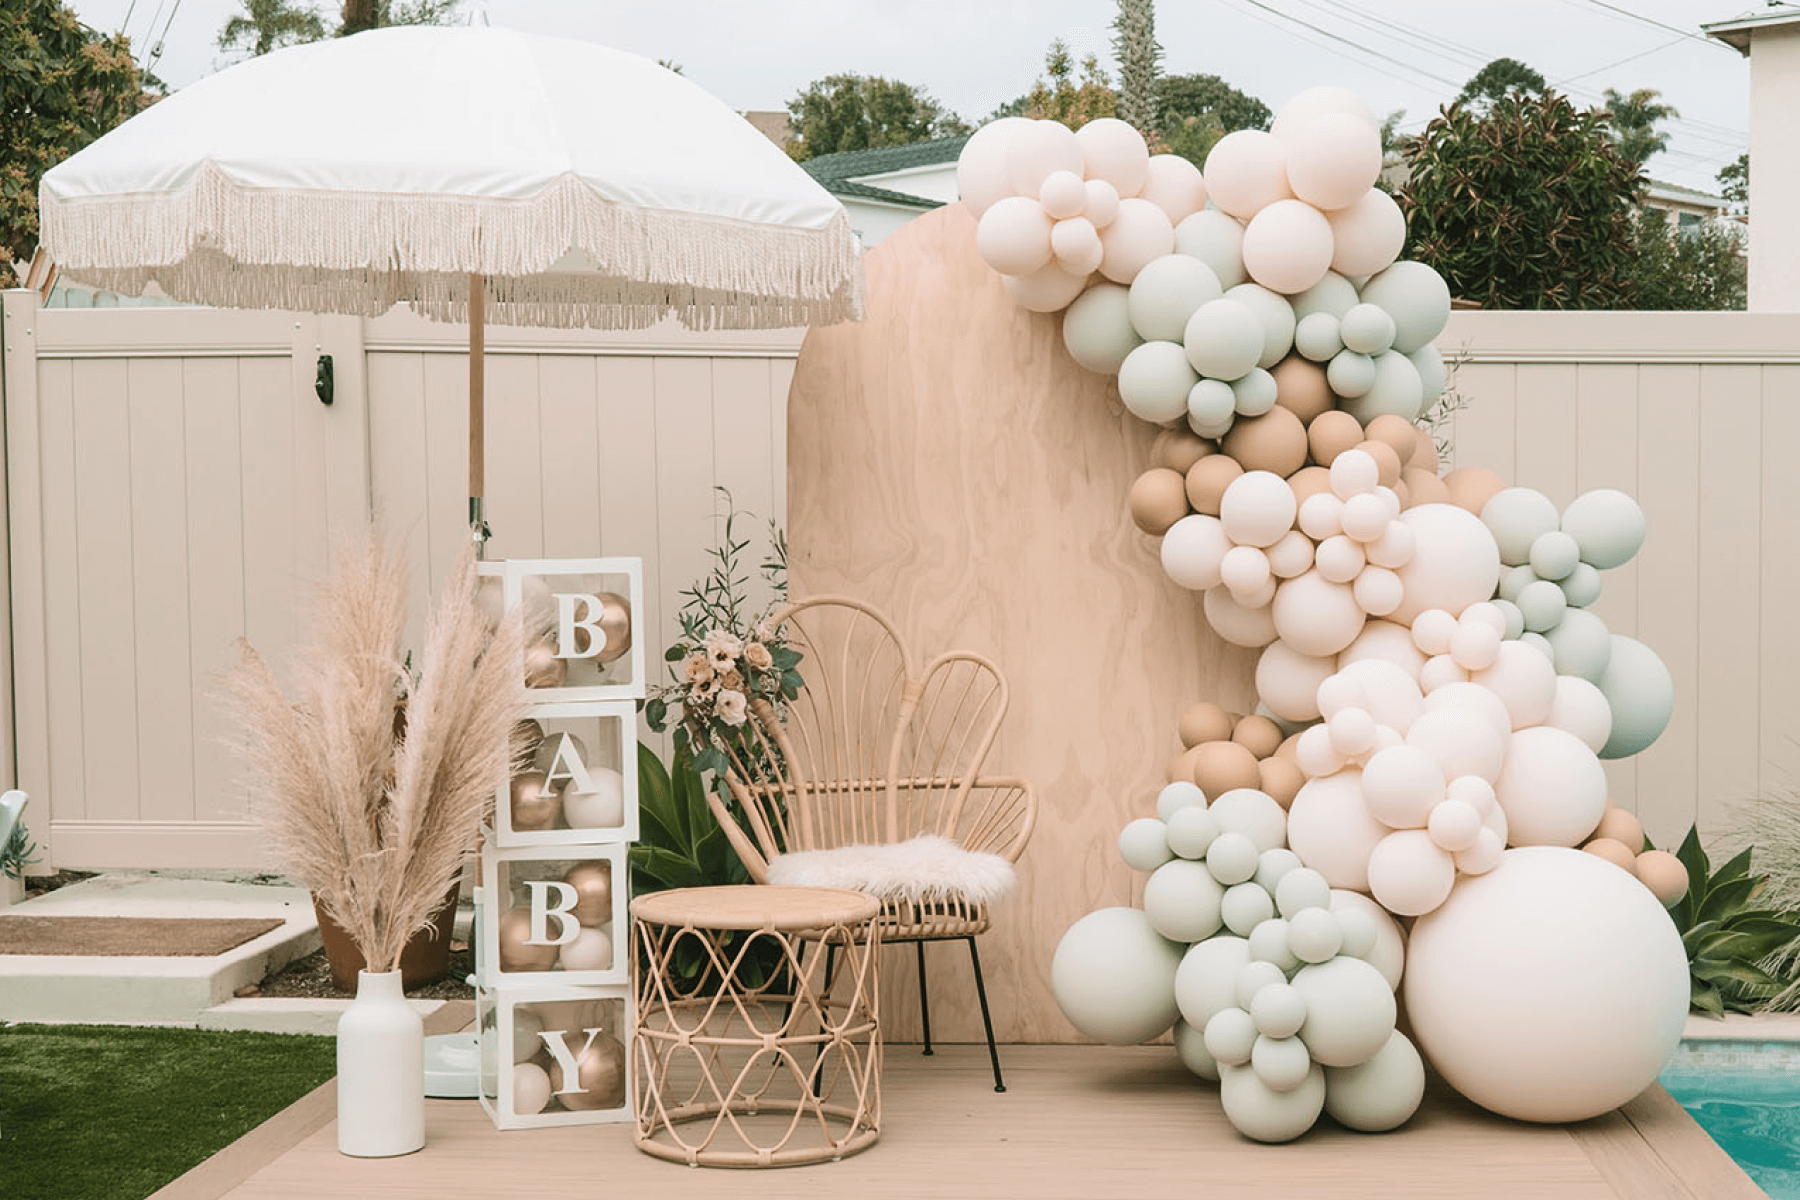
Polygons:
<instances>
[{"instance_id":1,"label":"white bottle-shaped vase holding the pampas grass","mask_svg":"<svg viewBox=\"0 0 1800 1200\"><path fill-rule=\"evenodd\" d=\"M409 1155L425 1146L425 1022L400 972L358 972L338 1018L338 1153Z\"/></svg>"}]
</instances>

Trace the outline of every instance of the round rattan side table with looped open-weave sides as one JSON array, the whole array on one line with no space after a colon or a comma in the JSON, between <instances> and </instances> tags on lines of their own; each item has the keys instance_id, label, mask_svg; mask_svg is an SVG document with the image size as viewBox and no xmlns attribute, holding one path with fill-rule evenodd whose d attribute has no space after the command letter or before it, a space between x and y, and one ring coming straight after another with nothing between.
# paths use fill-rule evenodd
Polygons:
<instances>
[{"instance_id":1,"label":"round rattan side table with looped open-weave sides","mask_svg":"<svg viewBox=\"0 0 1800 1200\"><path fill-rule=\"evenodd\" d=\"M689 887L632 901L637 1148L763 1168L875 1144L878 912L875 898L830 887Z\"/></svg>"}]
</instances>

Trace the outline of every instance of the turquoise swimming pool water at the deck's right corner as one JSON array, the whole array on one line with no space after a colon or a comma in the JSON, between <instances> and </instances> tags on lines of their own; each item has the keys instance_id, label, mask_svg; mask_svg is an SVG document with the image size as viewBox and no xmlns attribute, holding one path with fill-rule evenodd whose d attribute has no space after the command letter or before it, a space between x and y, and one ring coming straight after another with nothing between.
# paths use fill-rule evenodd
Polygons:
<instances>
[{"instance_id":1,"label":"turquoise swimming pool water at the deck's right corner","mask_svg":"<svg viewBox=\"0 0 1800 1200\"><path fill-rule=\"evenodd\" d=\"M1771 1200L1800 1200L1800 1045L1683 1042L1660 1079Z\"/></svg>"}]
</instances>

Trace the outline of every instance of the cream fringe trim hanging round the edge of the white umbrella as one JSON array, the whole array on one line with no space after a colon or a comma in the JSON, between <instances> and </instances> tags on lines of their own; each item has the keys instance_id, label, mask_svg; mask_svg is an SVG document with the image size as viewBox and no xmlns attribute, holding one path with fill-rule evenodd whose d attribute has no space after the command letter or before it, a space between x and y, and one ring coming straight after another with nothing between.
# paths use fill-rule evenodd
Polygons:
<instances>
[{"instance_id":1,"label":"cream fringe trim hanging round the edge of the white umbrella","mask_svg":"<svg viewBox=\"0 0 1800 1200\"><path fill-rule=\"evenodd\" d=\"M842 209L823 228L765 225L610 201L574 176L477 200L248 189L205 164L167 194L45 189L40 219L74 281L234 308L376 315L407 300L466 320L473 272L495 324L635 329L673 309L693 327L781 327L857 318L864 299ZM553 272L571 250L596 270Z\"/></svg>"}]
</instances>

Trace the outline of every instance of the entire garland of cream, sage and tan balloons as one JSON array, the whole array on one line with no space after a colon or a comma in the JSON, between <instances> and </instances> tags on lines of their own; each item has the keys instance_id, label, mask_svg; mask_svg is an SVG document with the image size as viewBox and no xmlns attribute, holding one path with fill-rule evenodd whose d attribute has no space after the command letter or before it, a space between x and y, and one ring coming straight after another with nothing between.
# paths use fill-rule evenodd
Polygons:
<instances>
[{"instance_id":1,"label":"entire garland of cream, sage and tan balloons","mask_svg":"<svg viewBox=\"0 0 1800 1200\"><path fill-rule=\"evenodd\" d=\"M1397 261L1381 164L1339 88L1226 135L1204 173L1111 119L997 121L958 164L1013 300L1060 313L1071 358L1163 426L1127 498L1163 572L1262 651L1258 714L1183 714L1156 815L1120 835L1143 905L1071 927L1053 990L1098 1040L1174 1031L1258 1141L1323 1112L1395 1128L1426 1058L1496 1112L1597 1115L1654 1079L1687 1013L1660 907L1687 878L1638 853L1600 766L1674 707L1667 667L1589 608L1643 515L1440 475L1420 417L1451 297Z\"/></svg>"}]
</instances>

